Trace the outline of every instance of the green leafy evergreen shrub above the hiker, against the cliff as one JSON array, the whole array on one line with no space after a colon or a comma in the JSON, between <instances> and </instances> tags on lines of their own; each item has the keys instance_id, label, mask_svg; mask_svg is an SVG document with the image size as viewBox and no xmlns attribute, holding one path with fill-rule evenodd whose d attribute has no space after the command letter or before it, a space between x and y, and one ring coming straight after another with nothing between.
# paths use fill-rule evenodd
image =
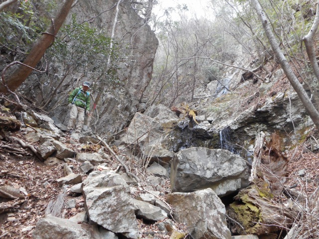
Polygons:
<instances>
[{"instance_id":1,"label":"green leafy evergreen shrub above the hiker, against the cliff","mask_svg":"<svg viewBox=\"0 0 319 239\"><path fill-rule=\"evenodd\" d=\"M111 83L118 83L117 70L123 59L123 51L113 40L113 50L110 52L111 37L103 30L90 26L87 22L78 23L76 15L72 15L72 22L60 29L58 37L48 54L59 64L63 64L65 71L90 75L92 78L105 76ZM108 69L107 60L111 54L111 64Z\"/></svg>"}]
</instances>

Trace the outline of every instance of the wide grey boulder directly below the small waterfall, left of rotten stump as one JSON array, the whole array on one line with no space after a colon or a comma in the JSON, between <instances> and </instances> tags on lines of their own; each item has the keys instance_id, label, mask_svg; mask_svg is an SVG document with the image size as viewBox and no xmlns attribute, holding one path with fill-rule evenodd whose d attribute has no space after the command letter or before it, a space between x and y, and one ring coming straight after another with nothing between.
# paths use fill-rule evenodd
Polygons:
<instances>
[{"instance_id":1,"label":"wide grey boulder directly below the small waterfall, left of rotten stump","mask_svg":"<svg viewBox=\"0 0 319 239\"><path fill-rule=\"evenodd\" d=\"M246 162L223 149L191 147L175 154L171 162L171 192L211 188L225 196L248 186Z\"/></svg>"}]
</instances>

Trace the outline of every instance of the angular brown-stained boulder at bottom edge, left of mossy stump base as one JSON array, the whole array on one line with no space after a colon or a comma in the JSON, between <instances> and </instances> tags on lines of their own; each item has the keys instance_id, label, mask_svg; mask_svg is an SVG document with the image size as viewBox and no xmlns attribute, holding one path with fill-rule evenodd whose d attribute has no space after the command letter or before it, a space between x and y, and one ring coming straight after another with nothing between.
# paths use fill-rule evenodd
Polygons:
<instances>
[{"instance_id":1,"label":"angular brown-stained boulder at bottom edge, left of mossy stump base","mask_svg":"<svg viewBox=\"0 0 319 239\"><path fill-rule=\"evenodd\" d=\"M225 206L212 189L171 193L167 202L174 208L174 220L185 223L192 238L231 239Z\"/></svg>"}]
</instances>

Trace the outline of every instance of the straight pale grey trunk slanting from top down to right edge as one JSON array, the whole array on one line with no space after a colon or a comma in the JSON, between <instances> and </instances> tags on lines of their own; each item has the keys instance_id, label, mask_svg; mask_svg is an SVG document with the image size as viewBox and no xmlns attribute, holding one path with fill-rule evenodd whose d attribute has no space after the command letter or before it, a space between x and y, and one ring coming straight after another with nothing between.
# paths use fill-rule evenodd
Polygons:
<instances>
[{"instance_id":1,"label":"straight pale grey trunk slanting from top down to right edge","mask_svg":"<svg viewBox=\"0 0 319 239\"><path fill-rule=\"evenodd\" d=\"M259 15L259 19L261 20L261 22L263 24L263 28L264 28L266 36L269 40L269 43L270 43L270 45L271 45L271 47L272 47L272 49L273 49L273 51L278 59L280 65L282 66L290 84L293 86L294 90L297 92L297 94L298 94L300 100L302 101L302 103L304 104L306 111L308 112L310 118L313 120L314 124L319 129L319 113L316 110L316 108L314 107L314 105L312 104L305 89L300 84L298 78L294 74L291 66L289 65L283 52L281 51L279 44L276 40L276 37L275 37L274 33L272 32L271 25L269 23L269 19L267 18L266 13L264 12L264 9L262 8L262 6L260 5L258 0L251 0L251 1L254 5L254 8L255 8L257 14Z\"/></svg>"}]
</instances>

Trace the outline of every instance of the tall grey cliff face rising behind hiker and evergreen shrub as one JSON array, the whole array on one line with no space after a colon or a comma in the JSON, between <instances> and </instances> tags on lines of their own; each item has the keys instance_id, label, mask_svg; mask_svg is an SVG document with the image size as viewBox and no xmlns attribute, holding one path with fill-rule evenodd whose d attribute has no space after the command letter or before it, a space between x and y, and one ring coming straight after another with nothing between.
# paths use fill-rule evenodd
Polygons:
<instances>
[{"instance_id":1,"label":"tall grey cliff face rising behind hiker and evergreen shrub","mask_svg":"<svg viewBox=\"0 0 319 239\"><path fill-rule=\"evenodd\" d=\"M72 14L76 14L77 22L88 21L91 26L103 29L112 35L112 28L116 16L116 0L86 0L77 1L66 19L71 22ZM119 5L117 23L115 26L115 40L121 42L126 57L119 63L118 77L121 84L108 86L104 89L97 107L97 115L91 126L97 133L112 135L121 130L127 120L133 117L143 93L151 81L153 63L158 48L158 39L148 24L144 23L130 2ZM54 71L54 72L53 72ZM58 86L61 70L52 68L51 76L32 74L19 88L20 93L32 99L36 105L41 105ZM70 91L81 85L78 75L69 76L59 87L51 103L45 109L56 121L65 125L68 122L69 112L66 109L67 96ZM94 82L96 79L89 79ZM91 91L92 97L97 92Z\"/></svg>"}]
</instances>

